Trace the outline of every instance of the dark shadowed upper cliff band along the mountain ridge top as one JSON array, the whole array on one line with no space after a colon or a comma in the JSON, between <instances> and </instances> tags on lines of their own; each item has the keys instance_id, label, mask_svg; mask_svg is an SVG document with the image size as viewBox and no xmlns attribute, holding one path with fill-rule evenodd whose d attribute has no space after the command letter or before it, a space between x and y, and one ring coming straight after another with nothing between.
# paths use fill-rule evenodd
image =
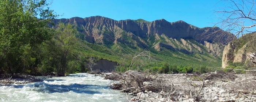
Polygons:
<instances>
[{"instance_id":1,"label":"dark shadowed upper cliff band along the mountain ridge top","mask_svg":"<svg viewBox=\"0 0 256 102\"><path fill-rule=\"evenodd\" d=\"M139 21L138 21L139 20ZM140 38L145 38L150 35L158 34L162 35L165 34L169 38L192 38L195 39L197 42L204 43L204 41L212 42L214 40L214 37L217 36L217 34L212 34L211 37L203 37L204 32L207 30L210 30L208 32L214 32L213 30L219 30L219 28L215 27L204 27L199 28L196 26L193 26L191 24L186 23L185 21L179 20L175 22L168 22L165 19L160 20L154 20L154 21L146 21L143 19L138 20L113 20L107 17L102 16L91 16L86 18L80 18L80 17L72 17L70 19L54 19L54 24L57 24L57 22L63 22L63 23L72 23L77 25L82 25L84 27L87 27L88 30L85 34L87 34L87 39L91 39L92 36L95 36L95 32L92 32L93 27L107 27L110 31L114 32L114 27L121 28L122 30L125 30L126 32L131 32L132 34L139 36ZM90 27L90 28L89 28ZM98 32L96 32L98 33ZM221 39L218 40L218 42L226 43L225 40L227 39L227 36L223 36ZM97 40L94 38L94 41ZM94 41L89 41L91 43L94 43ZM224 42L223 42L224 41Z\"/></svg>"}]
</instances>

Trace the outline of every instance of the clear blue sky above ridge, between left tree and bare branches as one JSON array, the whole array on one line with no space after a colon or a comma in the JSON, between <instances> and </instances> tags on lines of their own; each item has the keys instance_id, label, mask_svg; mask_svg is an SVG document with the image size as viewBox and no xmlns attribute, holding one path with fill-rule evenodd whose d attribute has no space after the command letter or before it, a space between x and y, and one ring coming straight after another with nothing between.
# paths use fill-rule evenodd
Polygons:
<instances>
[{"instance_id":1,"label":"clear blue sky above ridge, between left tree and bare branches","mask_svg":"<svg viewBox=\"0 0 256 102\"><path fill-rule=\"evenodd\" d=\"M104 16L114 20L183 20L197 27L218 22L219 0L53 0L49 6L60 18Z\"/></svg>"}]
</instances>

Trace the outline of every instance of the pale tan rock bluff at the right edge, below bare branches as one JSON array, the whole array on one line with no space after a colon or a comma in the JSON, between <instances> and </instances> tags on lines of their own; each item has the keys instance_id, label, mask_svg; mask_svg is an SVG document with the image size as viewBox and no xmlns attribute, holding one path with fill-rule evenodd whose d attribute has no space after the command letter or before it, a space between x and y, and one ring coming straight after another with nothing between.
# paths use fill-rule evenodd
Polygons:
<instances>
[{"instance_id":1,"label":"pale tan rock bluff at the right edge, below bare branches","mask_svg":"<svg viewBox=\"0 0 256 102\"><path fill-rule=\"evenodd\" d=\"M249 55L256 51L256 33L246 34L233 42L227 44L223 50L222 67L230 63L249 64Z\"/></svg>"}]
</instances>

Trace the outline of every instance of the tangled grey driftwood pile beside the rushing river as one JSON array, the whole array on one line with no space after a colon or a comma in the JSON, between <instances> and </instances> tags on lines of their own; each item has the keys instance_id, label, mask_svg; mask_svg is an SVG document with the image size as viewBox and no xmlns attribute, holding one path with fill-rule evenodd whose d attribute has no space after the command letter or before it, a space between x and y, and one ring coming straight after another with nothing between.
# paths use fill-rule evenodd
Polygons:
<instances>
[{"instance_id":1,"label":"tangled grey driftwood pile beside the rushing river","mask_svg":"<svg viewBox=\"0 0 256 102\"><path fill-rule=\"evenodd\" d=\"M110 74L105 79L119 81L111 83L110 88L130 95L148 91L159 93L172 90L172 85L167 80L161 79L157 75L145 75L138 71L129 70L125 74Z\"/></svg>"}]
</instances>

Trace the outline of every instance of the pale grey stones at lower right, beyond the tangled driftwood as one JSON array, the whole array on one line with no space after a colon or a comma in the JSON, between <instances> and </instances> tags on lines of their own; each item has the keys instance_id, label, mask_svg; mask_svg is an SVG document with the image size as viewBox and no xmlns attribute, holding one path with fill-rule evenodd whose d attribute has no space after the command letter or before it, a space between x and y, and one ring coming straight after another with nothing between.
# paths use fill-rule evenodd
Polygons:
<instances>
[{"instance_id":1,"label":"pale grey stones at lower right, beyond the tangled driftwood","mask_svg":"<svg viewBox=\"0 0 256 102\"><path fill-rule=\"evenodd\" d=\"M169 75L160 76L164 78ZM175 74L172 76L172 82L175 87L173 92L154 93L145 91L137 93L133 99L160 102L255 102L256 87L252 84L256 83L256 77L248 75L236 76L238 77L234 81L205 80L203 85L202 81L192 81L188 75ZM199 93L201 89L202 91ZM168 94L170 96L167 96Z\"/></svg>"}]
</instances>

